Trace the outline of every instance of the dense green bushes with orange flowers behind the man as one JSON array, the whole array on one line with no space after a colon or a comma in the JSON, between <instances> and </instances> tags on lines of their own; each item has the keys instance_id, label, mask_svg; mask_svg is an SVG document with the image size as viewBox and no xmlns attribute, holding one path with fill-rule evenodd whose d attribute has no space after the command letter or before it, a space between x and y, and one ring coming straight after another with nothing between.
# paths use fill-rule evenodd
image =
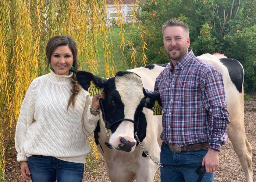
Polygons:
<instances>
[{"instance_id":1,"label":"dense green bushes with orange flowers behind the man","mask_svg":"<svg viewBox=\"0 0 256 182\"><path fill-rule=\"evenodd\" d=\"M162 43L162 25L172 17L190 29L190 49L196 56L224 53L244 66L245 92L256 90L256 0L152 0L140 1L138 21L144 26L149 63L169 62ZM140 55L139 35L133 35Z\"/></svg>"}]
</instances>

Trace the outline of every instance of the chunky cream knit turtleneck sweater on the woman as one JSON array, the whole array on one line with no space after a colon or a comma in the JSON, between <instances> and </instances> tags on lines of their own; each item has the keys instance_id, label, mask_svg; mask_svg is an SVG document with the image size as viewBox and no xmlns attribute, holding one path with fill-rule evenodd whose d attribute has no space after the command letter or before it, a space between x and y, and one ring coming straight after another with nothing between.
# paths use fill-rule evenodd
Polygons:
<instances>
[{"instance_id":1,"label":"chunky cream knit turtleneck sweater on the woman","mask_svg":"<svg viewBox=\"0 0 256 182\"><path fill-rule=\"evenodd\" d=\"M90 152L87 136L95 130L99 115L91 114L92 100L84 89L76 96L75 107L70 104L67 112L72 75L51 71L31 82L16 126L17 161L44 155L85 163Z\"/></svg>"}]
</instances>

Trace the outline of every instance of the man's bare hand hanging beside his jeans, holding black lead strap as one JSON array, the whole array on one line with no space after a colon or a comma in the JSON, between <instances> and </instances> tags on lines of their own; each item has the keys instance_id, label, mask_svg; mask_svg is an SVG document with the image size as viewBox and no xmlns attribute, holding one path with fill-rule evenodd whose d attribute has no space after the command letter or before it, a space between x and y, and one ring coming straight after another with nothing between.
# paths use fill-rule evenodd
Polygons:
<instances>
[{"instance_id":1,"label":"man's bare hand hanging beside his jeans, holding black lead strap","mask_svg":"<svg viewBox=\"0 0 256 182\"><path fill-rule=\"evenodd\" d=\"M202 166L205 165L205 170L207 173L212 173L219 168L219 151L209 149L204 156Z\"/></svg>"}]
</instances>

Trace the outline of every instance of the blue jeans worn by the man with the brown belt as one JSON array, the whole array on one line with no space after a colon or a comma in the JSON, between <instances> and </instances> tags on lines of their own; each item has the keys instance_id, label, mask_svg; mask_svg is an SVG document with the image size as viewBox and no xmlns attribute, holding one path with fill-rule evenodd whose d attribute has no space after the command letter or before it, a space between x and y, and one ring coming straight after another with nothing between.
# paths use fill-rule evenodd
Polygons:
<instances>
[{"instance_id":1,"label":"blue jeans worn by the man with the brown belt","mask_svg":"<svg viewBox=\"0 0 256 182\"><path fill-rule=\"evenodd\" d=\"M190 152L173 153L164 142L161 146L160 163L177 165L202 162L208 149L193 150ZM161 167L161 182L196 182L197 167ZM214 173L205 173L201 182L213 182Z\"/></svg>"}]
</instances>

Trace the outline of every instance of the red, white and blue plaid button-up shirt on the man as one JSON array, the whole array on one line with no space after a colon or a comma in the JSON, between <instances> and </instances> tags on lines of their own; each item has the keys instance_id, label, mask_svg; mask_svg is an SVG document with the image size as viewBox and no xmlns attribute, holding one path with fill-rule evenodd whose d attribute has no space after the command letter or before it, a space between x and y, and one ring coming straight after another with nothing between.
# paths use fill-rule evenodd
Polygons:
<instances>
[{"instance_id":1,"label":"red, white and blue plaid button-up shirt on the man","mask_svg":"<svg viewBox=\"0 0 256 182\"><path fill-rule=\"evenodd\" d=\"M173 74L172 69L171 63L155 81L163 110L161 139L180 147L209 141L209 148L220 150L229 123L222 74L192 50L176 62Z\"/></svg>"}]
</instances>

